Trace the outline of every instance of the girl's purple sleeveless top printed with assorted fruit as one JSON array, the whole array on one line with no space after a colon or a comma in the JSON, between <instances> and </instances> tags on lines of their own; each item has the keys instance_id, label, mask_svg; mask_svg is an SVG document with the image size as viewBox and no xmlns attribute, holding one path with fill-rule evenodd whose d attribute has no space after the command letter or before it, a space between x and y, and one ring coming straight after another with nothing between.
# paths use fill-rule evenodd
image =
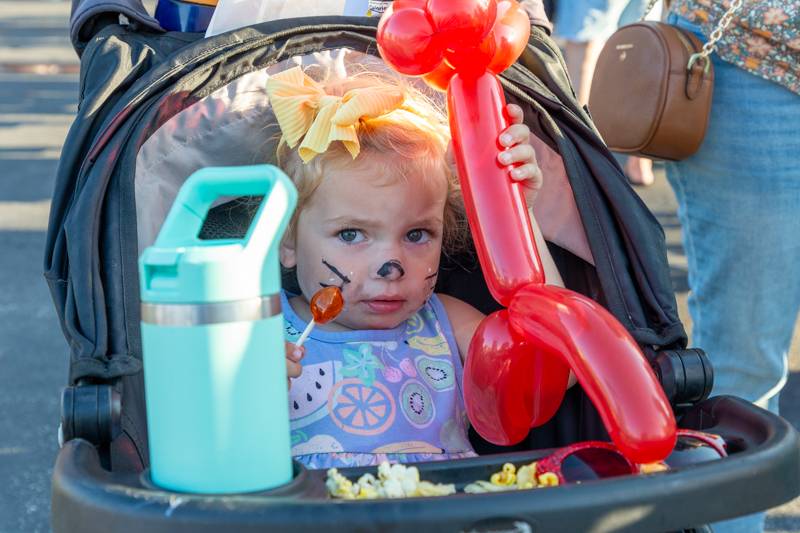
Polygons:
<instances>
[{"instance_id":1,"label":"girl's purple sleeveless top printed with assorted fruit","mask_svg":"<svg viewBox=\"0 0 800 533\"><path fill-rule=\"evenodd\" d=\"M281 294L285 336L306 326ZM312 330L292 381L292 455L308 468L474 457L462 366L436 295L394 329Z\"/></svg>"}]
</instances>

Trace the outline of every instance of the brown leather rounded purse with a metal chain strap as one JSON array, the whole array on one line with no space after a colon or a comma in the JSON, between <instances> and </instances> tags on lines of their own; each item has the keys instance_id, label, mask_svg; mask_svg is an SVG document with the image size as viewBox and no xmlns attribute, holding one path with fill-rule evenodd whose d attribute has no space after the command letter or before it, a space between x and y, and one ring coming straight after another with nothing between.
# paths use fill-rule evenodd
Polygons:
<instances>
[{"instance_id":1,"label":"brown leather rounded purse with a metal chain strap","mask_svg":"<svg viewBox=\"0 0 800 533\"><path fill-rule=\"evenodd\" d=\"M714 85L709 56L741 3L734 0L705 45L692 32L650 21L623 26L609 38L595 67L589 111L612 151L677 161L700 148Z\"/></svg>"}]
</instances>

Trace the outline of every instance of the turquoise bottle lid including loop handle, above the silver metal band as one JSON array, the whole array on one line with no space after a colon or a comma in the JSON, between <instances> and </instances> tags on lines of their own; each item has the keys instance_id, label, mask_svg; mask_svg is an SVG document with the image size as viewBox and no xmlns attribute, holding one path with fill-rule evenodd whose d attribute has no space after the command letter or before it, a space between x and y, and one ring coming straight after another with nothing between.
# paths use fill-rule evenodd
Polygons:
<instances>
[{"instance_id":1,"label":"turquoise bottle lid including loop handle, above the silver metal band","mask_svg":"<svg viewBox=\"0 0 800 533\"><path fill-rule=\"evenodd\" d=\"M242 239L201 239L220 197L263 196ZM291 180L271 165L210 167L184 183L156 242L139 258L143 303L212 303L280 291L278 246L297 202Z\"/></svg>"}]
</instances>

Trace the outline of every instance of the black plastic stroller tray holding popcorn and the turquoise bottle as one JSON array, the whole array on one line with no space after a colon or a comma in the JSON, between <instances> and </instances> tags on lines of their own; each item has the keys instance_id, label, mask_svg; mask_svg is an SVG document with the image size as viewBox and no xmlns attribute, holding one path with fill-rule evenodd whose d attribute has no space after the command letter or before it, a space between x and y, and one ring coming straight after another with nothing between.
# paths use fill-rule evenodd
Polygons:
<instances>
[{"instance_id":1,"label":"black plastic stroller tray holding popcorn and the turquoise bottle","mask_svg":"<svg viewBox=\"0 0 800 533\"><path fill-rule=\"evenodd\" d=\"M729 457L652 475L545 489L465 494L503 463L548 450L418 464L422 479L457 494L334 500L323 470L295 466L294 480L266 492L195 495L154 487L141 474L104 470L86 441L67 442L53 474L56 532L250 531L672 531L779 505L800 493L800 441L785 420L733 397L686 413L681 426L725 437ZM191 444L188 444L191 445ZM343 468L355 479L374 468Z\"/></svg>"}]
</instances>

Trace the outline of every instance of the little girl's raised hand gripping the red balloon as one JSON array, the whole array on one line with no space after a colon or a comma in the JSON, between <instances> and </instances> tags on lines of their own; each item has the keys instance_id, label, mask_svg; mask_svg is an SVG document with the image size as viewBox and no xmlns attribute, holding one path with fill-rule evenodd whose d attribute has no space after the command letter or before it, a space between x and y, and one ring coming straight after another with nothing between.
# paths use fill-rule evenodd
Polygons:
<instances>
[{"instance_id":1,"label":"little girl's raised hand gripping the red balloon","mask_svg":"<svg viewBox=\"0 0 800 533\"><path fill-rule=\"evenodd\" d=\"M498 141L506 149L497 154L501 165L509 167L509 175L514 181L522 182L528 207L542 187L542 171L536 163L536 152L530 144L531 130L522 123L522 108L516 104L506 106L511 125L500 134Z\"/></svg>"}]
</instances>

